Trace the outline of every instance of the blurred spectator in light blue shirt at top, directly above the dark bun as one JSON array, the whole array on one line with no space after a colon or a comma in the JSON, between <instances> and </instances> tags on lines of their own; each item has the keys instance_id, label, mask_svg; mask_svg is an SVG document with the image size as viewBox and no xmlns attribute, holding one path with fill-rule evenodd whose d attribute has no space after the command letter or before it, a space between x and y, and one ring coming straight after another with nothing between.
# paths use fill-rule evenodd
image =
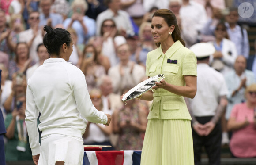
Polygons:
<instances>
[{"instance_id":1,"label":"blurred spectator in light blue shirt at top, directly above the dark bun","mask_svg":"<svg viewBox=\"0 0 256 165\"><path fill-rule=\"evenodd\" d=\"M42 13L40 14L39 26L48 25L55 27L63 22L62 15L50 11L52 4L52 0L40 0Z\"/></svg>"}]
</instances>

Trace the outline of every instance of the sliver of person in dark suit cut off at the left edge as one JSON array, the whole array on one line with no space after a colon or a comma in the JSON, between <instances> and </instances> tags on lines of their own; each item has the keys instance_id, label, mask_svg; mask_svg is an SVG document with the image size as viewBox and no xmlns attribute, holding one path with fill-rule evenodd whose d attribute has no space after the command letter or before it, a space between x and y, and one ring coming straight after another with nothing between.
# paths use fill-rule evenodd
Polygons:
<instances>
[{"instance_id":1,"label":"sliver of person in dark suit cut off at the left edge","mask_svg":"<svg viewBox=\"0 0 256 165\"><path fill-rule=\"evenodd\" d=\"M1 82L1 72L0 70L0 82ZM0 83L0 96L1 96L1 83ZM4 126L4 117L2 110L0 108L0 165L5 165L5 155L4 155L4 134L6 133Z\"/></svg>"}]
</instances>

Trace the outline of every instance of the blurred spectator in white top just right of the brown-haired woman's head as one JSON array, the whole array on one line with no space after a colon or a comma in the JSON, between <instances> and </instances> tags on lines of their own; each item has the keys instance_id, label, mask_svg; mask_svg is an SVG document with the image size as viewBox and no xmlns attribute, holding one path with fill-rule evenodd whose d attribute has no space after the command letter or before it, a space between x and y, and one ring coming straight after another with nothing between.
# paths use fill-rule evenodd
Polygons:
<instances>
[{"instance_id":1,"label":"blurred spectator in white top just right of the brown-haired woman's head","mask_svg":"<svg viewBox=\"0 0 256 165\"><path fill-rule=\"evenodd\" d=\"M179 11L181 29L186 47L190 47L196 42L200 42L200 31L207 22L207 14L205 8L193 0L182 0L182 2Z\"/></svg>"}]
</instances>

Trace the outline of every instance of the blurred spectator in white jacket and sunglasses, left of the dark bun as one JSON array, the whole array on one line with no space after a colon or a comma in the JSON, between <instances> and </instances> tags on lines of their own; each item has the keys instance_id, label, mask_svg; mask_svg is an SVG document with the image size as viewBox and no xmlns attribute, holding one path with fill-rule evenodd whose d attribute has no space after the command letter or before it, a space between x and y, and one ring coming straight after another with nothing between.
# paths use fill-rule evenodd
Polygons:
<instances>
[{"instance_id":1,"label":"blurred spectator in white jacket and sunglasses, left of the dark bun","mask_svg":"<svg viewBox=\"0 0 256 165\"><path fill-rule=\"evenodd\" d=\"M18 42L26 42L29 46L29 55L32 61L38 62L37 47L39 43L43 42L43 30L39 27L39 13L33 11L29 14L30 29L19 33Z\"/></svg>"}]
</instances>

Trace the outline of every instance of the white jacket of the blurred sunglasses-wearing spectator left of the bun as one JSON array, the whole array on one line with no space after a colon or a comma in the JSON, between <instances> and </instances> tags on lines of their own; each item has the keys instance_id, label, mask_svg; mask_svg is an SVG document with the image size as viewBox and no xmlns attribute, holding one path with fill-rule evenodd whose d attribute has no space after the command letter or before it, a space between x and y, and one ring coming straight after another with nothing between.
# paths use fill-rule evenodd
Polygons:
<instances>
[{"instance_id":1,"label":"white jacket of the blurred sunglasses-wearing spectator left of the bun","mask_svg":"<svg viewBox=\"0 0 256 165\"><path fill-rule=\"evenodd\" d=\"M29 43L30 40L33 38L34 33L32 29L25 30L23 32L19 33L19 42L26 42ZM39 28L38 35L34 38L30 50L29 55L32 58L34 62L38 62L38 53L37 53L37 47L39 43L43 43L43 37L42 37L42 30Z\"/></svg>"}]
</instances>

